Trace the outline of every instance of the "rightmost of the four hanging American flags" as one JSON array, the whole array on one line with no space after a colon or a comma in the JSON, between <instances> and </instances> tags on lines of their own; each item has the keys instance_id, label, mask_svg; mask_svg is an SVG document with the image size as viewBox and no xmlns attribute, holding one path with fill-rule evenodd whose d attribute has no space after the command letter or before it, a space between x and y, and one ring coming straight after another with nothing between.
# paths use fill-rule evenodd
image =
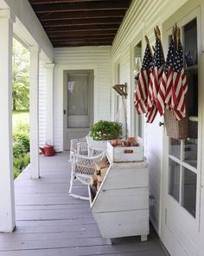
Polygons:
<instances>
[{"instance_id":1,"label":"rightmost of the four hanging American flags","mask_svg":"<svg viewBox=\"0 0 204 256\"><path fill-rule=\"evenodd\" d=\"M182 43L179 41L178 49L175 51L173 68L171 108L174 109L178 121L186 116L185 95L188 91L187 77L183 69Z\"/></svg>"}]
</instances>

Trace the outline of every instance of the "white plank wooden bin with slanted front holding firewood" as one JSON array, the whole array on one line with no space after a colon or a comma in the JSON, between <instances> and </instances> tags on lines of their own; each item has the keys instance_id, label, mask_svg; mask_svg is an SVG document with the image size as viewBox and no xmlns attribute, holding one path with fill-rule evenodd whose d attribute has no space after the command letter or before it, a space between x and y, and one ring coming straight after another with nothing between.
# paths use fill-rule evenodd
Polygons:
<instances>
[{"instance_id":1,"label":"white plank wooden bin with slanted front holding firewood","mask_svg":"<svg viewBox=\"0 0 204 256\"><path fill-rule=\"evenodd\" d=\"M110 160L109 160L110 161ZM143 161L110 161L97 194L89 187L92 214L106 239L149 234L149 181Z\"/></svg>"}]
</instances>

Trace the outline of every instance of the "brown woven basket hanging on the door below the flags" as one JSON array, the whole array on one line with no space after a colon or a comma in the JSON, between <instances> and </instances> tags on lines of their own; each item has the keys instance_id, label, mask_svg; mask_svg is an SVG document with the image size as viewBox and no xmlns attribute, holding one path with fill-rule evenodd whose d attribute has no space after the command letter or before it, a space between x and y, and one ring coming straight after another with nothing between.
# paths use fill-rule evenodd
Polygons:
<instances>
[{"instance_id":1,"label":"brown woven basket hanging on the door below the flags","mask_svg":"<svg viewBox=\"0 0 204 256\"><path fill-rule=\"evenodd\" d=\"M167 135L171 138L182 140L188 137L188 118L177 121L173 111L165 109L164 122Z\"/></svg>"}]
</instances>

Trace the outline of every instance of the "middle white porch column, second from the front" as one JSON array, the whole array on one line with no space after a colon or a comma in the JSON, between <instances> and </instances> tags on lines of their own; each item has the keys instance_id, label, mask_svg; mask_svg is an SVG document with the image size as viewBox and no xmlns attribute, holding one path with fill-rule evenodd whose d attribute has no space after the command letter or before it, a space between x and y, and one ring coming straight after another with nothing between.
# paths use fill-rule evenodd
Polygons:
<instances>
[{"instance_id":1,"label":"middle white porch column, second from the front","mask_svg":"<svg viewBox=\"0 0 204 256\"><path fill-rule=\"evenodd\" d=\"M30 175L31 179L40 177L39 167L39 53L38 47L30 50L29 71L29 139L30 139Z\"/></svg>"}]
</instances>

